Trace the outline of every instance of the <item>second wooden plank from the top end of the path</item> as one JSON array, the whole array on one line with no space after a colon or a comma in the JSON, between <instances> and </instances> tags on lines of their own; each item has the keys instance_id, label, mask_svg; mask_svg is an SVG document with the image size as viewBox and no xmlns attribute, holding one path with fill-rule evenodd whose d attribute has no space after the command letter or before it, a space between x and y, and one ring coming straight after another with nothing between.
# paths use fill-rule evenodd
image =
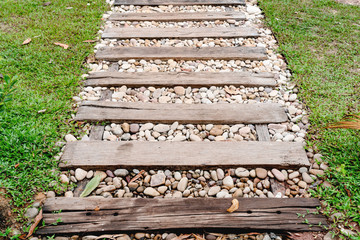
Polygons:
<instances>
[{"instance_id":1,"label":"second wooden plank from the top end of the path","mask_svg":"<svg viewBox=\"0 0 360 240\"><path fill-rule=\"evenodd\" d=\"M243 12L113 13L109 21L215 21L245 20Z\"/></svg>"}]
</instances>

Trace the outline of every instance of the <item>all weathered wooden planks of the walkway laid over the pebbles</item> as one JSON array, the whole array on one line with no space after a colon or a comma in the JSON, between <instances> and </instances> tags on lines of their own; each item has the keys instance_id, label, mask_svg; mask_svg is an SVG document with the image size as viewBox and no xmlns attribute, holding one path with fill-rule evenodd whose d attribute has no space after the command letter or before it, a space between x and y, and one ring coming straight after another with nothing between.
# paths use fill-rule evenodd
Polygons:
<instances>
[{"instance_id":1,"label":"all weathered wooden planks of the walkway laid over the pebbles","mask_svg":"<svg viewBox=\"0 0 360 240\"><path fill-rule=\"evenodd\" d=\"M115 0L115 6L138 5L245 5L244 0ZM244 20L243 12L113 13L111 21L214 21ZM107 28L103 38L245 38L259 37L251 27L216 28ZM309 167L303 145L273 142L269 123L284 123L288 114L275 103L258 104L158 104L112 102L115 87L276 87L272 73L250 72L118 72L119 60L267 60L263 47L102 47L96 58L112 62L112 69L91 73L85 86L107 87L99 101L81 103L75 120L94 123L90 141L67 143L62 170L214 169ZM252 142L149 142L102 141L101 123L254 124ZM96 125L99 124L100 125ZM228 213L232 199L216 198L53 198L43 208L45 227L37 233L85 234L129 231L318 231L326 225L315 214L317 199L238 198L239 208ZM306 216L307 223L299 214ZM61 218L61 223L51 225ZM309 226L312 227L309 227Z\"/></svg>"}]
</instances>

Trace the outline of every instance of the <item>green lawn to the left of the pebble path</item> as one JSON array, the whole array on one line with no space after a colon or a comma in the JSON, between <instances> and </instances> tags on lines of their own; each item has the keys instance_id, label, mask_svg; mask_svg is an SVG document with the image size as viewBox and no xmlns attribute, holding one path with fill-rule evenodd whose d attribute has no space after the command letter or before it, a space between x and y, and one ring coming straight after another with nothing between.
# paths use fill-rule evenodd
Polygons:
<instances>
[{"instance_id":1,"label":"green lawn to the left of the pebble path","mask_svg":"<svg viewBox=\"0 0 360 240\"><path fill-rule=\"evenodd\" d=\"M97 37L107 8L104 0L44 2L0 1L0 73L18 79L13 100L0 112L0 187L19 210L56 179L55 143L75 129L67 122L71 97L93 51L83 41ZM32 41L22 45L27 38Z\"/></svg>"}]
</instances>

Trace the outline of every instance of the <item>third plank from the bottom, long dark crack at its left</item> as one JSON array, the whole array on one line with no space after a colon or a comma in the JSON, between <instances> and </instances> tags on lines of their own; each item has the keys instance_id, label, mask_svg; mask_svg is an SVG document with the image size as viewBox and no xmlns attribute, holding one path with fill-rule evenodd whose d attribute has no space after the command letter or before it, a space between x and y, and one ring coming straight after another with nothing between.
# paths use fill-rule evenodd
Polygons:
<instances>
[{"instance_id":1,"label":"third plank from the bottom, long dark crack at its left","mask_svg":"<svg viewBox=\"0 0 360 240\"><path fill-rule=\"evenodd\" d=\"M161 104L83 102L75 120L89 122L281 123L288 117L280 104Z\"/></svg>"}]
</instances>

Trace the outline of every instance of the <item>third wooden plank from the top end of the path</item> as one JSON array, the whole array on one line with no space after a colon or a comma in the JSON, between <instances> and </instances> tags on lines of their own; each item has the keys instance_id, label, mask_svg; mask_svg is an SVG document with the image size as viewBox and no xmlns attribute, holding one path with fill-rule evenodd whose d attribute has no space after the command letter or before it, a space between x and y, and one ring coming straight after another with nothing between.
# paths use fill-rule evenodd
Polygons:
<instances>
[{"instance_id":1,"label":"third wooden plank from the top end of the path","mask_svg":"<svg viewBox=\"0 0 360 240\"><path fill-rule=\"evenodd\" d=\"M253 27L191 27L191 28L106 28L102 38L160 39L160 38L247 38L259 37Z\"/></svg>"}]
</instances>

